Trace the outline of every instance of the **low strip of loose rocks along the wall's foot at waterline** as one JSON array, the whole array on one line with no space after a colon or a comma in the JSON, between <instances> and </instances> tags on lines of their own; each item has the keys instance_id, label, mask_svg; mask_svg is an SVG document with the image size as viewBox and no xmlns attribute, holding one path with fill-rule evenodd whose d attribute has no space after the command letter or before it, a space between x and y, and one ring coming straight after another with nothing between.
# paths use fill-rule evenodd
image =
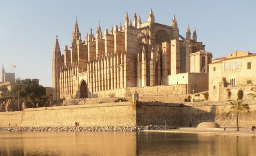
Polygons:
<instances>
[{"instance_id":1,"label":"low strip of loose rocks along the wall's foot at waterline","mask_svg":"<svg viewBox=\"0 0 256 156\"><path fill-rule=\"evenodd\" d=\"M136 127L106 126L106 127L0 127L0 131L143 131L143 130L170 130L171 126L147 125Z\"/></svg>"}]
</instances>

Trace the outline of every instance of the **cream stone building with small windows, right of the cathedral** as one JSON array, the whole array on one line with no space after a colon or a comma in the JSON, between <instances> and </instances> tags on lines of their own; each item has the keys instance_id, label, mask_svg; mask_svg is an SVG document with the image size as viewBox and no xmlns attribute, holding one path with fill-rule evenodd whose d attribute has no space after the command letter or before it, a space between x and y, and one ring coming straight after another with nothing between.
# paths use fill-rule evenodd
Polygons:
<instances>
[{"instance_id":1,"label":"cream stone building with small windows, right of the cathedral","mask_svg":"<svg viewBox=\"0 0 256 156\"><path fill-rule=\"evenodd\" d=\"M244 92L244 98L251 99L247 94L256 83L255 60L256 54L242 51L214 59L209 64L209 100L235 100L239 90Z\"/></svg>"}]
</instances>

